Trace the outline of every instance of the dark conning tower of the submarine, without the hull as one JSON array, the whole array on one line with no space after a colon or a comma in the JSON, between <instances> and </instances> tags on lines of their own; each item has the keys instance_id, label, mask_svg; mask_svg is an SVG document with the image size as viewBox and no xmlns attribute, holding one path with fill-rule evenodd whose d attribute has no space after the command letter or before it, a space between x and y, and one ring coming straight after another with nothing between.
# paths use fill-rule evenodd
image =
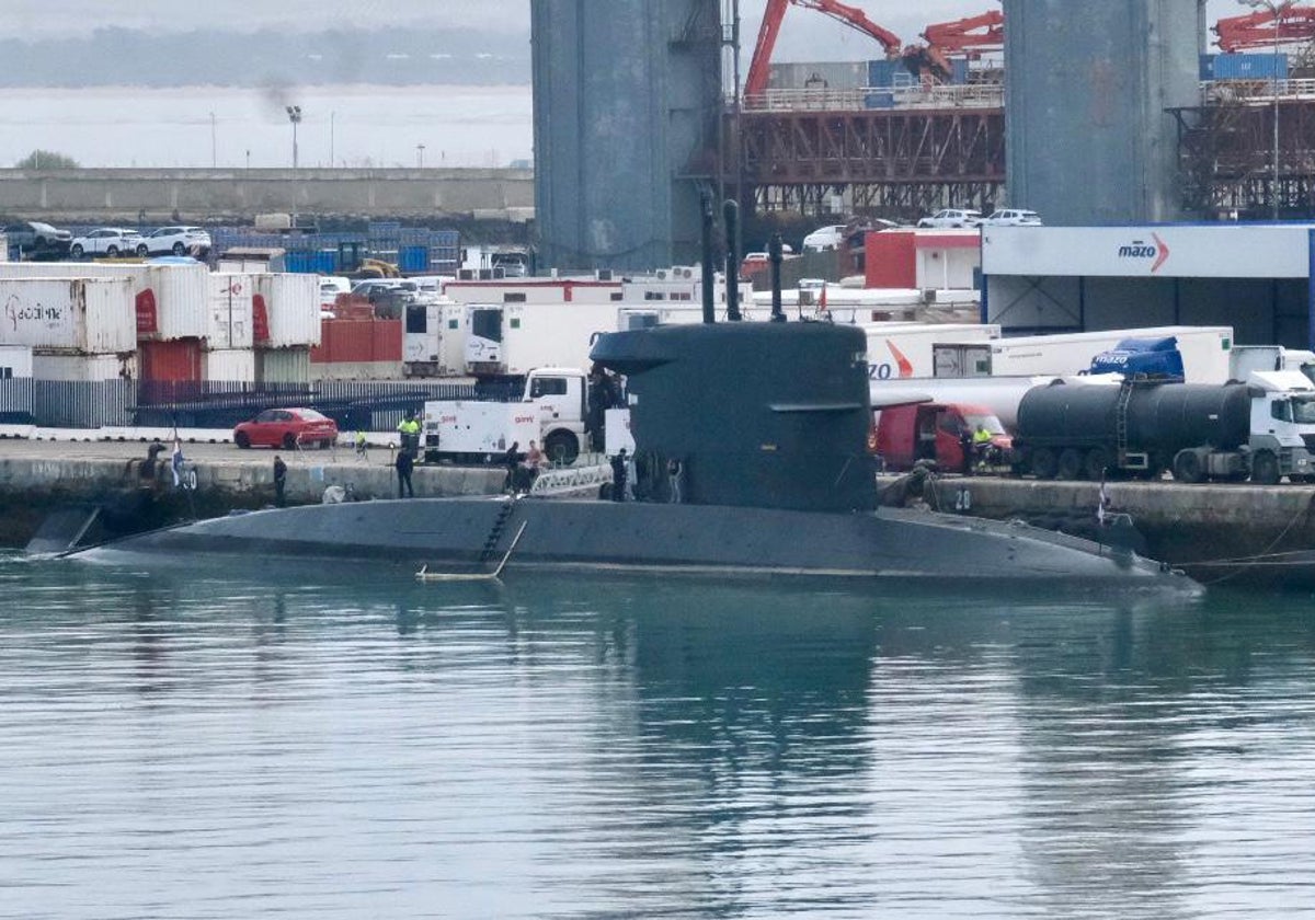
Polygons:
<instances>
[{"instance_id":1,"label":"dark conning tower of the submarine, without the hull","mask_svg":"<svg viewBox=\"0 0 1315 920\"><path fill-rule=\"evenodd\" d=\"M800 511L876 507L867 338L821 322L658 326L600 336L627 379L636 457L684 467L682 499Z\"/></svg>"}]
</instances>

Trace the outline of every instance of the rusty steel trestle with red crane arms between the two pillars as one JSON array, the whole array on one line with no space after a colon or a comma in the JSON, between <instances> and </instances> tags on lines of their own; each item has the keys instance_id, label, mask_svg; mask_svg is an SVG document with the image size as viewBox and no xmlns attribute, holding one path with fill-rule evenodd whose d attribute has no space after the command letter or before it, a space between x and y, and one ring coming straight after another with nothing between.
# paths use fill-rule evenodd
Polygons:
<instances>
[{"instance_id":1,"label":"rusty steel trestle with red crane arms between the two pillars","mask_svg":"<svg viewBox=\"0 0 1315 920\"><path fill-rule=\"evenodd\" d=\"M769 89L768 64L789 7L825 13L871 37L905 71L881 88ZM948 204L988 206L1005 183L998 81L948 83L956 57L999 51L1003 16L928 26L903 45L839 0L769 0L743 93L723 130L725 183L757 210L847 209L917 216Z\"/></svg>"}]
</instances>

